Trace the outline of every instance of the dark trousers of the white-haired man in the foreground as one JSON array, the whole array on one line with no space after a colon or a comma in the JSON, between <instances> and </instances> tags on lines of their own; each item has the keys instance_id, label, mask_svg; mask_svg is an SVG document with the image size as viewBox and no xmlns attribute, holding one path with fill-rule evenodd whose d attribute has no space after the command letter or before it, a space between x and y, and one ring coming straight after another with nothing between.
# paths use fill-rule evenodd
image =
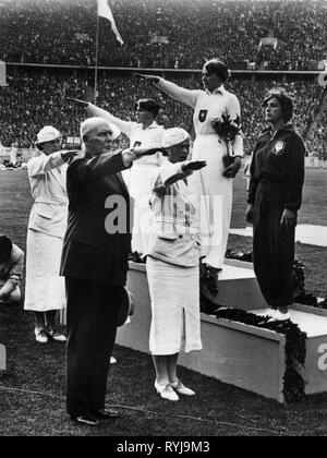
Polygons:
<instances>
[{"instance_id":1,"label":"dark trousers of the white-haired man in the foreground","mask_svg":"<svg viewBox=\"0 0 327 458\"><path fill-rule=\"evenodd\" d=\"M66 278L66 408L72 418L104 409L122 287Z\"/></svg>"}]
</instances>

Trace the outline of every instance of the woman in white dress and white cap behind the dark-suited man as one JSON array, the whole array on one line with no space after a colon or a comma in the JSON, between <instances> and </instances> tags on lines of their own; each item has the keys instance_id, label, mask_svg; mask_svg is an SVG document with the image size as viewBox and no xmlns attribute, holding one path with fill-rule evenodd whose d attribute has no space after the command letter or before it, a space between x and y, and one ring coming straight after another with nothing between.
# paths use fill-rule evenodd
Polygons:
<instances>
[{"instance_id":1,"label":"woman in white dress and white cap behind the dark-suited man","mask_svg":"<svg viewBox=\"0 0 327 458\"><path fill-rule=\"evenodd\" d=\"M65 170L76 152L60 150L60 132L47 125L37 134L40 154L27 164L34 205L27 229L24 310L34 312L35 338L64 342L56 332L58 311L65 308L64 279L59 276L68 219Z\"/></svg>"}]
</instances>

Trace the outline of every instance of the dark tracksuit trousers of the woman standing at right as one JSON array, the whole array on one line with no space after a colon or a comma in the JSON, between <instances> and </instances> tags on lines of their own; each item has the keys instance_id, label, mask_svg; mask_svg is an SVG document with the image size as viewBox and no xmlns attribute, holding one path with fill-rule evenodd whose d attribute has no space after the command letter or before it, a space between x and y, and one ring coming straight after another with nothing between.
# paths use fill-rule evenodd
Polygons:
<instances>
[{"instance_id":1,"label":"dark tracksuit trousers of the woman standing at right","mask_svg":"<svg viewBox=\"0 0 327 458\"><path fill-rule=\"evenodd\" d=\"M258 192L269 191L258 189ZM253 262L262 293L271 309L293 303L295 228L280 225L282 206L258 194L254 208Z\"/></svg>"}]
</instances>

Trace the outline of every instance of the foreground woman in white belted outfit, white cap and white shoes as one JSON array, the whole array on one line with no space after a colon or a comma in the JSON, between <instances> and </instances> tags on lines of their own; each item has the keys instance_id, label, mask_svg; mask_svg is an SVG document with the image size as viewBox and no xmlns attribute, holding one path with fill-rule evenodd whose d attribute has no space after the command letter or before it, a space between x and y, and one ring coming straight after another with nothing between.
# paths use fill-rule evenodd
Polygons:
<instances>
[{"instance_id":1,"label":"foreground woman in white belted outfit, white cap and white shoes","mask_svg":"<svg viewBox=\"0 0 327 458\"><path fill-rule=\"evenodd\" d=\"M169 161L152 181L155 224L146 263L152 300L149 349L157 393L177 401L179 395L195 395L177 375L179 353L202 349L197 198L187 177L206 164L186 160L190 136L183 129L168 129L162 141Z\"/></svg>"}]
</instances>

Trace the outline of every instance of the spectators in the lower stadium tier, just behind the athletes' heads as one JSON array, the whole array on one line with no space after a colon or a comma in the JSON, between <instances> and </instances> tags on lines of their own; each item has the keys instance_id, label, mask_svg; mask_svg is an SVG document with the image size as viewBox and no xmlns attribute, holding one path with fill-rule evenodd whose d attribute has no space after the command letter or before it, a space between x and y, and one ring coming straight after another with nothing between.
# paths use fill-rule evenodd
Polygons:
<instances>
[{"instance_id":1,"label":"spectators in the lower stadium tier, just behind the athletes' heads","mask_svg":"<svg viewBox=\"0 0 327 458\"><path fill-rule=\"evenodd\" d=\"M192 76L171 79L178 84L201 87L198 73ZM8 87L0 88L0 141L3 146L15 144L20 147L33 147L33 142L41 125L56 125L63 136L78 136L80 122L85 113L66 97L86 98L88 81L86 76L72 73L45 73L39 70L11 72ZM242 124L245 137L245 152L250 154L262 125L261 100L274 86L282 86L295 103L294 125L303 133L322 92L316 80L293 80L277 82L271 77L250 80L233 76L228 88L234 92L242 107ZM153 97L161 103L162 112L158 120L166 128L179 125L192 131L192 110L166 97L155 87L141 82L132 75L99 75L98 101L102 108L122 119L134 120L134 100L140 97ZM131 97L133 94L133 97ZM327 158L326 118L312 132L307 141L310 155Z\"/></svg>"}]
</instances>

